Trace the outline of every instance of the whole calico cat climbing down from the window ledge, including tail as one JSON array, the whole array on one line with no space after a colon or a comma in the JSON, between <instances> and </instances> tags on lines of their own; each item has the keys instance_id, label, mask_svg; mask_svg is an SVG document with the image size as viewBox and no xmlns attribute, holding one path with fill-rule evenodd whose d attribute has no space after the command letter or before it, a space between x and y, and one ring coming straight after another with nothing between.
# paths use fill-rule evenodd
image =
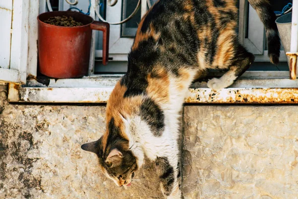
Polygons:
<instances>
[{"instance_id":1,"label":"whole calico cat climbing down from the window ledge, including tail","mask_svg":"<svg viewBox=\"0 0 298 199\"><path fill-rule=\"evenodd\" d=\"M269 0L249 0L265 25L268 55L278 64L280 38ZM130 186L144 158L156 161L167 199L181 199L179 118L191 82L207 69L228 69L208 87L230 86L254 61L238 42L236 0L159 0L142 18L127 74L106 109L106 132L81 146L117 186Z\"/></svg>"}]
</instances>

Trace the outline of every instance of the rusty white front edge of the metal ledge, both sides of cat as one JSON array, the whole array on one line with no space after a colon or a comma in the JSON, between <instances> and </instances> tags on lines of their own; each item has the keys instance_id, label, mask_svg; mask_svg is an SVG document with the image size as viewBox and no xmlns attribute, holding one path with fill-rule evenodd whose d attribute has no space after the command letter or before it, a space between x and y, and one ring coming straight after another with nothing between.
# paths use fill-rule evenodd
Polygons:
<instances>
[{"instance_id":1,"label":"rusty white front edge of the metal ledge, both sides of cat","mask_svg":"<svg viewBox=\"0 0 298 199\"><path fill-rule=\"evenodd\" d=\"M42 103L105 103L113 87L33 88L9 84L8 101ZM189 89L186 103L298 103L297 88Z\"/></svg>"}]
</instances>

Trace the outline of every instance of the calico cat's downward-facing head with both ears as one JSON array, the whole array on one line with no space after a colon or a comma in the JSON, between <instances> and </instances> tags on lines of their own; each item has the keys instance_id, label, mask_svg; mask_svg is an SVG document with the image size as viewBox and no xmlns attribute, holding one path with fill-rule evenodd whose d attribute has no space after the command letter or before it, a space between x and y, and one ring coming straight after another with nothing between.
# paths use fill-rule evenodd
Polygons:
<instances>
[{"instance_id":1,"label":"calico cat's downward-facing head with both ears","mask_svg":"<svg viewBox=\"0 0 298 199\"><path fill-rule=\"evenodd\" d=\"M117 186L130 186L139 168L137 158L129 150L129 141L119 136L117 130L112 121L99 140L83 144L81 148L98 156L101 170Z\"/></svg>"}]
</instances>

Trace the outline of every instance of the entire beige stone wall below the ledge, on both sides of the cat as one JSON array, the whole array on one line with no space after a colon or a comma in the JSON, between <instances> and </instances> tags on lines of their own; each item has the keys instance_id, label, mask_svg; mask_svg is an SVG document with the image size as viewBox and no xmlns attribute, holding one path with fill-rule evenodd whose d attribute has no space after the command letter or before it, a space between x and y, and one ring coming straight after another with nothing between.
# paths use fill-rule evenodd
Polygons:
<instances>
[{"instance_id":1,"label":"entire beige stone wall below the ledge, on both sides of the cat","mask_svg":"<svg viewBox=\"0 0 298 199\"><path fill-rule=\"evenodd\" d=\"M147 161L128 190L80 149L105 129L103 105L12 104L0 86L0 199L161 199ZM297 199L297 106L185 106L186 199Z\"/></svg>"}]
</instances>

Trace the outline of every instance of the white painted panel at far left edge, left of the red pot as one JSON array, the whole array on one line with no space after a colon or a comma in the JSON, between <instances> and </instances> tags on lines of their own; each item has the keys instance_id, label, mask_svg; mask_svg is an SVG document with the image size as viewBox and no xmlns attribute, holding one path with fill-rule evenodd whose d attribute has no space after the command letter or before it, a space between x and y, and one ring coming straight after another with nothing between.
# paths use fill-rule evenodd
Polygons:
<instances>
[{"instance_id":1,"label":"white painted panel at far left edge, left of the red pot","mask_svg":"<svg viewBox=\"0 0 298 199\"><path fill-rule=\"evenodd\" d=\"M4 26L1 26L3 32L0 34L3 36L1 39L5 40L3 41L5 45L1 46L0 53L4 53L5 59L7 59L7 61L3 61L3 68L0 68L0 81L25 84L28 57L29 0L1 1L0 5L2 5L1 14L3 14L1 16L4 16L1 18L1 24L5 23ZM9 23L11 30L7 29ZM9 33L7 34L7 31L11 31L11 36ZM4 59L4 56L1 59Z\"/></svg>"}]
</instances>

